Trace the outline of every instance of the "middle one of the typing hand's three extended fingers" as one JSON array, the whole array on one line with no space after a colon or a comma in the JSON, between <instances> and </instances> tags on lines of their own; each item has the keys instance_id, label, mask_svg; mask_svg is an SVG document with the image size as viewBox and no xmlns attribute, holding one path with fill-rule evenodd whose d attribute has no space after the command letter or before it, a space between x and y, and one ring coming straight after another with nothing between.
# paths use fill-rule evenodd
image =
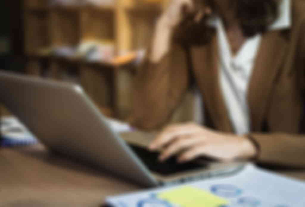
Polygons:
<instances>
[{"instance_id":1,"label":"middle one of the typing hand's three extended fingers","mask_svg":"<svg viewBox=\"0 0 305 207\"><path fill-rule=\"evenodd\" d=\"M181 136L164 150L159 159L160 161L164 161L179 151L190 148L202 142L202 137L196 137L192 135Z\"/></svg>"}]
</instances>

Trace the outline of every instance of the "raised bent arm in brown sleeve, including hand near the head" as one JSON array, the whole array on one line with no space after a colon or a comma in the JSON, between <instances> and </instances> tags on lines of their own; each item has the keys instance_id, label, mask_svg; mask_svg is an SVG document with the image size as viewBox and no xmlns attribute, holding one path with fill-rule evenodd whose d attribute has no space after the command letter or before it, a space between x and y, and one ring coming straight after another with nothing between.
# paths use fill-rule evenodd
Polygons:
<instances>
[{"instance_id":1,"label":"raised bent arm in brown sleeve, including hand near the head","mask_svg":"<svg viewBox=\"0 0 305 207\"><path fill-rule=\"evenodd\" d=\"M178 43L180 23L200 22L211 9L173 0L157 22L152 46L135 80L131 124L155 129L167 122L188 87L188 52Z\"/></svg>"}]
</instances>

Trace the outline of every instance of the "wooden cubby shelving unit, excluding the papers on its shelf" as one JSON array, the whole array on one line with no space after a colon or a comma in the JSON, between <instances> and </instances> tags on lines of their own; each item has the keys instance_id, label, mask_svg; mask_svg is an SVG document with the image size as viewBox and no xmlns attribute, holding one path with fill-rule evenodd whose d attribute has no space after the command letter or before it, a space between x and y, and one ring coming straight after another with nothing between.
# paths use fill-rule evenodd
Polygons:
<instances>
[{"instance_id":1,"label":"wooden cubby shelving unit, excluding the papers on its shelf","mask_svg":"<svg viewBox=\"0 0 305 207\"><path fill-rule=\"evenodd\" d=\"M63 81L70 77L68 81L80 83L106 115L126 117L134 73L100 61L42 55L41 50L75 47L86 40L113 42L117 55L146 48L165 3L117 0L103 6L49 6L48 0L25 0L27 74Z\"/></svg>"}]
</instances>

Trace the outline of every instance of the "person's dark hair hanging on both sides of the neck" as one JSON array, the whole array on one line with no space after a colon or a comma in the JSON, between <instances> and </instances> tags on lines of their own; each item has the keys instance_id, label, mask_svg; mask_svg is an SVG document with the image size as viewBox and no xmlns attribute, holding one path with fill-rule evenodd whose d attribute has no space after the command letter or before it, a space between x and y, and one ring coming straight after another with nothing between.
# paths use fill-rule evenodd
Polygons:
<instances>
[{"instance_id":1,"label":"person's dark hair hanging on both sides of the neck","mask_svg":"<svg viewBox=\"0 0 305 207\"><path fill-rule=\"evenodd\" d=\"M197 0L198 1L198 0ZM206 1L215 10L213 0ZM234 2L233 2L234 1ZM265 33L278 17L278 5L281 0L232 0L236 5L236 18L246 37ZM207 18L194 23L188 19L177 28L176 40L185 44L205 44L210 41L214 29L207 25Z\"/></svg>"}]
</instances>

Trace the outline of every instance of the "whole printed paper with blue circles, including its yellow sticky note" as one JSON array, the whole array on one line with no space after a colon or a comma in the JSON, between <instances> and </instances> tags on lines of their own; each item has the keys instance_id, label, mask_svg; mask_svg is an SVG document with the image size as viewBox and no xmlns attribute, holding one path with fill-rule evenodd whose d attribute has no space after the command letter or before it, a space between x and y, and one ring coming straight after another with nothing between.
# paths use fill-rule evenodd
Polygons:
<instances>
[{"instance_id":1,"label":"whole printed paper with blue circles, including its yellow sticky note","mask_svg":"<svg viewBox=\"0 0 305 207\"><path fill-rule=\"evenodd\" d=\"M225 178L108 197L114 207L304 207L305 182L248 164Z\"/></svg>"}]
</instances>

